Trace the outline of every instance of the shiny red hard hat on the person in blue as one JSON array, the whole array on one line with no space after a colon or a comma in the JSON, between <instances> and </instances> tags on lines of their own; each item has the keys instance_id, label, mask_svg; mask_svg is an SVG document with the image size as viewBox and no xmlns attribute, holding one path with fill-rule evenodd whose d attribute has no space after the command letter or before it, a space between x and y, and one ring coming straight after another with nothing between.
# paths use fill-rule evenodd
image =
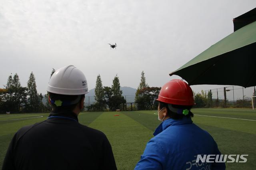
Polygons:
<instances>
[{"instance_id":1,"label":"shiny red hard hat on the person in blue","mask_svg":"<svg viewBox=\"0 0 256 170\"><path fill-rule=\"evenodd\" d=\"M164 84L156 100L173 105L192 106L195 104L192 89L179 79L173 79Z\"/></svg>"}]
</instances>

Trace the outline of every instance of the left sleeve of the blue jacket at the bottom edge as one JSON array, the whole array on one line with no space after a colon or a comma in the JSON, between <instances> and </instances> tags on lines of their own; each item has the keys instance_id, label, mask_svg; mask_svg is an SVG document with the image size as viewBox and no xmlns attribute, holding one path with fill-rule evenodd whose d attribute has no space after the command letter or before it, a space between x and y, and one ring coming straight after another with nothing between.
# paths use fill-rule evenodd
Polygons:
<instances>
[{"instance_id":1,"label":"left sleeve of the blue jacket at the bottom edge","mask_svg":"<svg viewBox=\"0 0 256 170\"><path fill-rule=\"evenodd\" d=\"M150 140L134 170L162 170L165 158L161 144Z\"/></svg>"}]
</instances>

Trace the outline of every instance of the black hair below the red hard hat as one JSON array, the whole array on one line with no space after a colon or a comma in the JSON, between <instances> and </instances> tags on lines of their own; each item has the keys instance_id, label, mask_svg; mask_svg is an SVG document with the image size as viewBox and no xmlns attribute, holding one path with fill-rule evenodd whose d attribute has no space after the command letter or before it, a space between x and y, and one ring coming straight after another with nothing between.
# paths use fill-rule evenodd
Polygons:
<instances>
[{"instance_id":1,"label":"black hair below the red hard hat","mask_svg":"<svg viewBox=\"0 0 256 170\"><path fill-rule=\"evenodd\" d=\"M172 118L172 119L182 119L183 117L193 117L194 114L190 111L190 109L192 108L192 106L184 106L184 105L172 105L172 107L176 108L176 109L188 109L188 115L183 115L183 114L178 114L175 113L173 111L171 111L168 107L168 105L172 105L172 104L168 104L168 103L163 103L159 101L159 109L162 109L164 107L166 107L167 109L167 115Z\"/></svg>"}]
</instances>

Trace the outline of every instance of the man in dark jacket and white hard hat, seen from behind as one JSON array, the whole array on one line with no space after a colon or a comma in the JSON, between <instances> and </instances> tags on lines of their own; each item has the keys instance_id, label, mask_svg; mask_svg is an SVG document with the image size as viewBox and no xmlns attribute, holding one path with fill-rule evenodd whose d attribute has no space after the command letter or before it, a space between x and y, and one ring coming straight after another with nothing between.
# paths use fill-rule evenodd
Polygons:
<instances>
[{"instance_id":1,"label":"man in dark jacket and white hard hat, seen from behind","mask_svg":"<svg viewBox=\"0 0 256 170\"><path fill-rule=\"evenodd\" d=\"M88 93L82 71L72 65L58 69L47 91L52 112L46 121L18 130L2 170L116 170L105 134L78 123Z\"/></svg>"}]
</instances>

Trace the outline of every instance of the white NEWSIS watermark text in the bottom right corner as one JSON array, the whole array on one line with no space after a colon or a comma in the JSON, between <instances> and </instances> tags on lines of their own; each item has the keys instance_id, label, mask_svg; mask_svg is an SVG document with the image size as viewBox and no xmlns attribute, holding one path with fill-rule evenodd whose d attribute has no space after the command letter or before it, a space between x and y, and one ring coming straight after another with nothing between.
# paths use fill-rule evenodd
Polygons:
<instances>
[{"instance_id":1,"label":"white NEWSIS watermark text in the bottom right corner","mask_svg":"<svg viewBox=\"0 0 256 170\"><path fill-rule=\"evenodd\" d=\"M239 162L239 163L245 163L247 162L247 158L245 158L245 156L248 155L235 155L235 154L230 154L230 155L214 155L214 154L210 154L210 155L197 155L196 158L196 163L198 163L199 161L201 162L216 162L216 163L223 163L223 162Z\"/></svg>"}]
</instances>

